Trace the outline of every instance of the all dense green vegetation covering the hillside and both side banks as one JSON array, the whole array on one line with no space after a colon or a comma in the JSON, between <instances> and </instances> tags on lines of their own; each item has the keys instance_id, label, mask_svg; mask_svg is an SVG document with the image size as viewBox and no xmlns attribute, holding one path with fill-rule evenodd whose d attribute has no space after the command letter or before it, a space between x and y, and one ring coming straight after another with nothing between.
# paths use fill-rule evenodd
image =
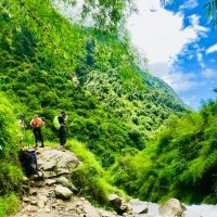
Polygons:
<instances>
[{"instance_id":1,"label":"all dense green vegetation covering the hillside and both side banks","mask_svg":"<svg viewBox=\"0 0 217 217\"><path fill-rule=\"evenodd\" d=\"M69 146L84 142L99 161L76 171L88 193L100 187L93 196L104 200L113 190L104 181L107 169L112 183L143 200L216 202L216 102L190 112L139 68L128 37L72 24L49 1L0 0L0 200L15 204L12 192L22 192L20 114L27 124L40 115L44 139L58 142L53 117L65 110ZM24 143L33 144L25 133ZM84 179L90 170L98 178ZM9 208L0 206L2 216Z\"/></svg>"}]
</instances>

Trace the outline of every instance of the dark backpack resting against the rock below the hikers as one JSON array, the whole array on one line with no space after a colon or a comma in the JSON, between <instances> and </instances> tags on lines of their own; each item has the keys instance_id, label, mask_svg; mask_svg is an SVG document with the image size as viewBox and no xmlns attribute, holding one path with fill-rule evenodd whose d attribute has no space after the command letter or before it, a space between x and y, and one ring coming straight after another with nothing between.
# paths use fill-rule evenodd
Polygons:
<instances>
[{"instance_id":1,"label":"dark backpack resting against the rock below the hikers","mask_svg":"<svg viewBox=\"0 0 217 217\"><path fill-rule=\"evenodd\" d=\"M35 151L20 151L20 161L27 177L39 174L40 169L38 168Z\"/></svg>"}]
</instances>

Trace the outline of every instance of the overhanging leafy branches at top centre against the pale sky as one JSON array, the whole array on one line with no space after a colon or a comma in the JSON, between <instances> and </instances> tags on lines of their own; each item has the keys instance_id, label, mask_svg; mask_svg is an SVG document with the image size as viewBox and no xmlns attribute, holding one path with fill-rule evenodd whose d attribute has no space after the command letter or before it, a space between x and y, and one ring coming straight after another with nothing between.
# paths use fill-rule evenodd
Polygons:
<instances>
[{"instance_id":1,"label":"overhanging leafy branches at top centre against the pale sky","mask_svg":"<svg viewBox=\"0 0 217 217\"><path fill-rule=\"evenodd\" d=\"M52 3L52 0L47 0ZM78 0L60 0L65 7L75 7ZM81 3L81 18L91 20L102 31L117 34L124 26L126 17L137 12L135 0L84 0Z\"/></svg>"}]
</instances>

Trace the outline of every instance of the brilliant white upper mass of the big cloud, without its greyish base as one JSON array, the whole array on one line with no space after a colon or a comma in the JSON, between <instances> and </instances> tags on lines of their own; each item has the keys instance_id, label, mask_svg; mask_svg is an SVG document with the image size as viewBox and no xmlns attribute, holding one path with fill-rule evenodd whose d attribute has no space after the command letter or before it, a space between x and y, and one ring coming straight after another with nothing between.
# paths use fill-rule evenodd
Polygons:
<instances>
[{"instance_id":1,"label":"brilliant white upper mass of the big cloud, without its greyish base","mask_svg":"<svg viewBox=\"0 0 217 217\"><path fill-rule=\"evenodd\" d=\"M190 16L191 25L183 28L183 14L164 10L158 0L137 0L137 3L140 13L129 18L129 29L132 42L145 51L150 63L175 59L186 44L206 33L196 15Z\"/></svg>"}]
</instances>

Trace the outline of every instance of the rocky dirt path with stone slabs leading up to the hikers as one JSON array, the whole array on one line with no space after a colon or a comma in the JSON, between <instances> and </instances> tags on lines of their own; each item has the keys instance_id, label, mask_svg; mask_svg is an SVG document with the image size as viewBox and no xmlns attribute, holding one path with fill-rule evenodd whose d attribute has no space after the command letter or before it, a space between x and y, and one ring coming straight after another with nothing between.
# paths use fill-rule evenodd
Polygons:
<instances>
[{"instance_id":1,"label":"rocky dirt path with stone slabs leading up to the hikers","mask_svg":"<svg viewBox=\"0 0 217 217\"><path fill-rule=\"evenodd\" d=\"M13 217L116 217L114 212L93 207L77 189L68 175L81 162L62 148L37 149L39 168L43 178L26 179L28 195L23 197L21 210ZM127 215L126 215L127 216Z\"/></svg>"}]
</instances>

